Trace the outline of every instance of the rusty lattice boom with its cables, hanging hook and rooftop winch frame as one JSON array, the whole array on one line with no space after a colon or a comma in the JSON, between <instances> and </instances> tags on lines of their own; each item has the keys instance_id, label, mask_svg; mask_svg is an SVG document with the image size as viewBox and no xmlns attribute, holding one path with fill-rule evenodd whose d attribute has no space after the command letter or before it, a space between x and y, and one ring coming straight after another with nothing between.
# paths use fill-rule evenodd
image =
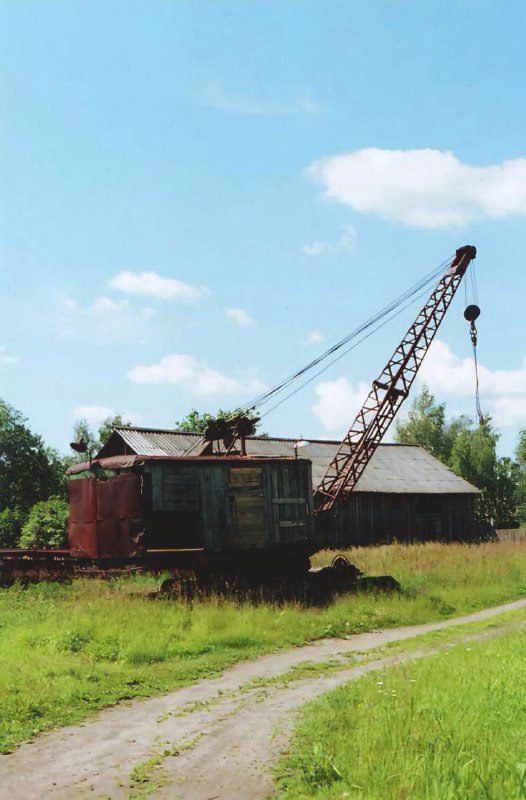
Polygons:
<instances>
[{"instance_id":1,"label":"rusty lattice boom with its cables, hanging hook and rooftop winch frame","mask_svg":"<svg viewBox=\"0 0 526 800\"><path fill-rule=\"evenodd\" d=\"M355 420L354 427L348 432L344 442L342 442L340 446L340 450L345 452L342 454L338 451L334 459L335 463L331 464L322 482L324 484L323 487L321 484L320 487L318 487L317 492L319 497L321 497L320 508L325 507L327 503L332 504L334 502L333 488L336 487L334 491L335 495L337 495L341 492L342 486L348 482L348 476L344 475L345 470L349 471L350 469L353 472L353 481L355 483L364 468L365 462L362 463L363 458L360 463L357 462L356 465L351 465L349 469L346 467L345 470L342 470L341 468L342 463L349 461L350 464L354 459L354 455L351 457L351 453L355 451L355 443L351 440L353 440L353 437L354 439L358 437L361 447L361 439L364 438L368 431L367 435L370 434L372 438L370 445L364 445L364 447L367 458L370 458L371 453L374 452L378 443L378 431L381 429L383 435L383 432L385 432L384 428L387 428L392 417L396 413L396 408L403 401L403 398L407 396L418 367L434 338L457 286L469 267L470 262L475 257L476 249L473 246L466 245L465 247L459 248L453 257L442 262L442 264L417 281L417 283L413 284L388 305L384 306L377 314L358 326L358 328L336 344L329 347L306 366L292 373L279 383L276 383L267 391L262 392L250 403L237 408L228 418L210 420L201 442L213 443L215 441L222 441L224 454L228 455L231 452L236 452L235 443L239 441L241 455L246 455L245 438L255 433L256 424L262 416L270 414L278 408L278 406L323 374L333 364L358 347L359 344L372 336L373 333L383 328L389 321L405 311L415 300L419 299L423 294L427 294L429 284L436 284L438 278L438 284L436 284L430 298L417 315L415 322L409 328L391 361L386 365L379 380L373 382L373 388ZM473 270L471 271L470 279L471 294L473 298L477 300L477 286ZM467 304L466 284L467 281L464 283L464 296ZM485 422L485 418L480 407L477 329L475 326L475 321L479 315L480 308L476 303L467 305L464 316L471 324L470 335L473 346L476 380L476 409L479 423L482 425ZM272 401L276 402L268 407ZM265 406L267 406L267 408L261 413ZM256 413L259 416L256 416ZM373 414L372 417L371 414ZM375 421L376 415L378 415L378 425ZM371 421L366 424L366 418L368 417L371 417ZM375 425L377 425L378 431L376 431L376 429L375 431L372 430L371 426L374 427ZM371 427L371 431L369 431L369 427ZM190 452L195 453L196 448L200 452L204 452L201 449L201 444L198 443L189 448L188 454ZM346 452L346 448L349 450L348 453ZM361 449L363 449L363 447ZM334 483L334 487L331 481ZM325 484L331 484L331 488L327 490Z\"/></svg>"}]
</instances>

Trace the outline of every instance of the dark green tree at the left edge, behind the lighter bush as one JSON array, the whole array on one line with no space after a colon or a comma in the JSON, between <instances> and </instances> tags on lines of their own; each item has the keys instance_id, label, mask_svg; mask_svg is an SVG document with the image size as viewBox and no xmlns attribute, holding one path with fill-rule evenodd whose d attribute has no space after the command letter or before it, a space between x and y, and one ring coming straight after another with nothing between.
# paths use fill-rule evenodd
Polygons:
<instances>
[{"instance_id":1,"label":"dark green tree at the left edge, behind the lighter bush","mask_svg":"<svg viewBox=\"0 0 526 800\"><path fill-rule=\"evenodd\" d=\"M63 490L62 460L26 422L0 400L0 511L18 509L25 514L34 503Z\"/></svg>"}]
</instances>

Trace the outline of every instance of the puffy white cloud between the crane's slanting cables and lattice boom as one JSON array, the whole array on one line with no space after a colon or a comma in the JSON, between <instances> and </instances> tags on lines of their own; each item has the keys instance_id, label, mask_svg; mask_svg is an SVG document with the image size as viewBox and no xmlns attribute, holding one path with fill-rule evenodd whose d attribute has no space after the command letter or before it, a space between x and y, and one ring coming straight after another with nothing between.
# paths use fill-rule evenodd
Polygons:
<instances>
[{"instance_id":1,"label":"puffy white cloud between the crane's slanting cables and lattice boom","mask_svg":"<svg viewBox=\"0 0 526 800\"><path fill-rule=\"evenodd\" d=\"M318 400L312 410L326 431L343 436L362 407L369 388L365 382L354 388L344 377L322 381L315 388Z\"/></svg>"}]
</instances>

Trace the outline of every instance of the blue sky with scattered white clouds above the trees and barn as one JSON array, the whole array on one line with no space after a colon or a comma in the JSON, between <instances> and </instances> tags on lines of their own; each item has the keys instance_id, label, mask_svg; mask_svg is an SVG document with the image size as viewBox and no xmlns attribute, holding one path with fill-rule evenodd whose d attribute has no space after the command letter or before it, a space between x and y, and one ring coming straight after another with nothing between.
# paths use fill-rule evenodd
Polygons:
<instances>
[{"instance_id":1,"label":"blue sky with scattered white clouds above the trees and barn","mask_svg":"<svg viewBox=\"0 0 526 800\"><path fill-rule=\"evenodd\" d=\"M512 455L525 23L522 0L4 0L0 397L61 453L81 418L242 406L473 244L413 397L475 417L478 302ZM262 430L341 437L418 310Z\"/></svg>"}]
</instances>

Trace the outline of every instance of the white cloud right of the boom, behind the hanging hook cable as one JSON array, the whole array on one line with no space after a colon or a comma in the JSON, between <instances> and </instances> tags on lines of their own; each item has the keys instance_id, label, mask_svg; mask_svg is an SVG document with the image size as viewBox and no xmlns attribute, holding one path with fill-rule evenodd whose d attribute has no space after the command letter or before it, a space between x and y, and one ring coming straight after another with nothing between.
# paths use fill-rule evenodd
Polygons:
<instances>
[{"instance_id":1,"label":"white cloud right of the boom, behind the hanging hook cable","mask_svg":"<svg viewBox=\"0 0 526 800\"><path fill-rule=\"evenodd\" d=\"M475 364L459 358L442 341L435 341L419 371L419 383L441 400L475 396ZM526 424L526 357L515 370L491 370L479 364L481 404L497 427Z\"/></svg>"}]
</instances>

